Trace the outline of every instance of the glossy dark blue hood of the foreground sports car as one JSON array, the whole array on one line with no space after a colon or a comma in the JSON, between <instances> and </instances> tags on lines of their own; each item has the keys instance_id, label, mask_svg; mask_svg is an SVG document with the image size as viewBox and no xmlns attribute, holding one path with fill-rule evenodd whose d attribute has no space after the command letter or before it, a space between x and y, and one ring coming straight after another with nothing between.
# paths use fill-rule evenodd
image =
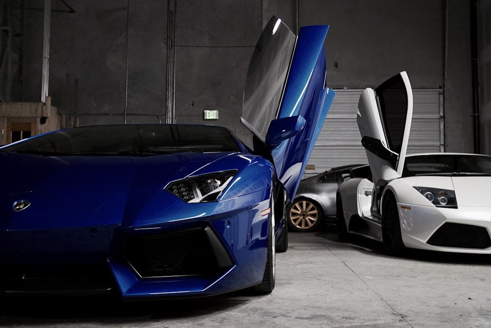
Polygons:
<instances>
[{"instance_id":1,"label":"glossy dark blue hood of the foreground sports car","mask_svg":"<svg viewBox=\"0 0 491 328\"><path fill-rule=\"evenodd\" d=\"M137 217L135 211L151 202L164 202L168 208L182 202L164 190L170 181L230 167L240 169L235 158L237 153L218 152L147 157L0 152L2 172L8 172L0 182L0 229L132 225L125 218ZM14 203L19 201L30 205L15 212Z\"/></svg>"}]
</instances>

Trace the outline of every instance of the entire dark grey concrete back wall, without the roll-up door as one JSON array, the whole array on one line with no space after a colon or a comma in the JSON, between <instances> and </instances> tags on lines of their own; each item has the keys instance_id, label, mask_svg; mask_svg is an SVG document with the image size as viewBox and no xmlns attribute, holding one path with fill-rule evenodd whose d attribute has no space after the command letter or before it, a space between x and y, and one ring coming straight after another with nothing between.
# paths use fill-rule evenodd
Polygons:
<instances>
[{"instance_id":1,"label":"entire dark grey concrete back wall, without the roll-up door","mask_svg":"<svg viewBox=\"0 0 491 328\"><path fill-rule=\"evenodd\" d=\"M223 125L246 137L238 118L247 64L275 14L295 32L330 25L331 88L373 87L402 70L413 88L443 88L446 150L472 151L466 0L68 3L75 13L52 13L49 94L79 125L170 119ZM23 101L41 95L42 20L42 11L27 11ZM204 121L205 109L218 109L218 121Z\"/></svg>"}]
</instances>

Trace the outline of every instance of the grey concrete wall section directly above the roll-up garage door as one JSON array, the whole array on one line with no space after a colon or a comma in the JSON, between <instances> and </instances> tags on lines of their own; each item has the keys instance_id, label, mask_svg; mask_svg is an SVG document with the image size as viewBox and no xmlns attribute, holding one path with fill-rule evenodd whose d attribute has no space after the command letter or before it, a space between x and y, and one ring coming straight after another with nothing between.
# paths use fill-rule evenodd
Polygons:
<instances>
[{"instance_id":1,"label":"grey concrete wall section directly above the roll-up garage door","mask_svg":"<svg viewBox=\"0 0 491 328\"><path fill-rule=\"evenodd\" d=\"M300 26L328 24L327 82L375 87L407 71L413 88L443 85L442 1L302 0Z\"/></svg>"}]
</instances>

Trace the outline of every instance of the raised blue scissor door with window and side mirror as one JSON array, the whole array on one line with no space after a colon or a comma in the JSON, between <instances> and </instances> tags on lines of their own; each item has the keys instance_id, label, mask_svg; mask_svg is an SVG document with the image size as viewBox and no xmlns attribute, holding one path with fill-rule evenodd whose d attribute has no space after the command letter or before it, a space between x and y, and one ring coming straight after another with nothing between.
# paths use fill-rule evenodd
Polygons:
<instances>
[{"instance_id":1,"label":"raised blue scissor door with window and side mirror","mask_svg":"<svg viewBox=\"0 0 491 328\"><path fill-rule=\"evenodd\" d=\"M241 121L254 150L267 147L290 199L334 98L325 85L327 29L301 27L297 37L273 16L247 70Z\"/></svg>"}]
</instances>

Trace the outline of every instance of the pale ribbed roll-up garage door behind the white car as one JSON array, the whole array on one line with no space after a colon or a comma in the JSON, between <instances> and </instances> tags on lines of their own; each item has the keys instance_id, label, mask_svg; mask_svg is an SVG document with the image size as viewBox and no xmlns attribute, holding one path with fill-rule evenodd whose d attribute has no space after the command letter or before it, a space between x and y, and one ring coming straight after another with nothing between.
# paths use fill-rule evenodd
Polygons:
<instances>
[{"instance_id":1,"label":"pale ribbed roll-up garage door behind the white car","mask_svg":"<svg viewBox=\"0 0 491 328\"><path fill-rule=\"evenodd\" d=\"M368 163L356 124L363 90L337 89L304 177L329 168ZM443 151L443 96L439 89L412 90L413 113L408 154Z\"/></svg>"}]
</instances>

